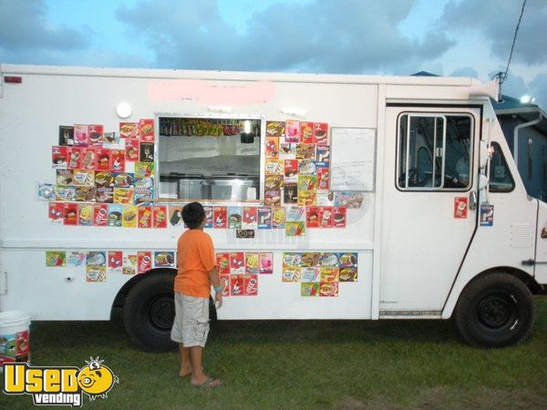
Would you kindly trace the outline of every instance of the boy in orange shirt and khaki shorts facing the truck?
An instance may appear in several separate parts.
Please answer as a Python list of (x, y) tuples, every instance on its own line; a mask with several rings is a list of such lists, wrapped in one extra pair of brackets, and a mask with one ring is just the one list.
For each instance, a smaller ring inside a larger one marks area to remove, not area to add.
[(175, 320), (171, 339), (179, 343), (181, 377), (191, 376), (191, 384), (218, 387), (222, 381), (203, 373), (201, 357), (209, 334), (211, 285), (215, 301), (222, 305), (222, 286), (211, 237), (203, 231), (205, 210), (199, 202), (182, 208), (188, 231), (177, 244), (179, 271), (175, 277)]

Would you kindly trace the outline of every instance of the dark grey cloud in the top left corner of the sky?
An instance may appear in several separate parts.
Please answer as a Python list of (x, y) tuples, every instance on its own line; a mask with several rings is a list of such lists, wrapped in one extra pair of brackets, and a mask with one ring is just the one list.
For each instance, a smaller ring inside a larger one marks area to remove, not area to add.
[(9, 56), (40, 50), (74, 50), (88, 45), (84, 34), (46, 20), (42, 0), (0, 0), (0, 50)]

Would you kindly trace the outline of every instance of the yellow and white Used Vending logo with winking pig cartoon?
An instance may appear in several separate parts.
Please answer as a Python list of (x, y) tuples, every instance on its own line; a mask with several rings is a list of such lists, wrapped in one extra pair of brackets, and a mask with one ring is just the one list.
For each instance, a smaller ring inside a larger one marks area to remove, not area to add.
[(29, 366), (23, 363), (4, 364), (4, 393), (32, 395), (34, 405), (83, 405), (84, 393), (89, 400), (108, 397), (108, 392), (119, 383), (119, 378), (103, 360), (97, 357), (86, 365)]

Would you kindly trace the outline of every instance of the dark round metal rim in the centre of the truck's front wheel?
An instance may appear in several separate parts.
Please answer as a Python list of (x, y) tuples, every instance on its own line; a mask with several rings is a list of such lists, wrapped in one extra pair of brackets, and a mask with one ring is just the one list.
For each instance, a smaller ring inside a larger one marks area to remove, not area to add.
[(490, 329), (501, 329), (516, 318), (516, 301), (510, 293), (490, 293), (479, 302), (480, 323)]

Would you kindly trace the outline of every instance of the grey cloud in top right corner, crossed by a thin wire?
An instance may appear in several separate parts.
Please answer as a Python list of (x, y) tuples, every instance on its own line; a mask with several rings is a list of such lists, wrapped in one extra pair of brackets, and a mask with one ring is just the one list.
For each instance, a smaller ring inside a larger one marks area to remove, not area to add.
[[(445, 6), (441, 26), (455, 34), (462, 30), (482, 33), (490, 43), (493, 55), (507, 61), (521, 6), (522, 0), (452, 0)], [(522, 15), (513, 61), (527, 64), (547, 62), (546, 21), (547, 3), (529, 0)]]

